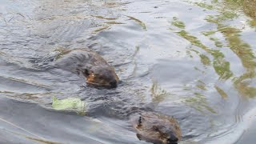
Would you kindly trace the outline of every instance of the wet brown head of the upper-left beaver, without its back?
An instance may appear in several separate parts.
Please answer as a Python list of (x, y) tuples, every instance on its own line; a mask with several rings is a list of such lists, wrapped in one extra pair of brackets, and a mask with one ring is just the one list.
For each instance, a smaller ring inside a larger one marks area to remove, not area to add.
[(94, 86), (116, 87), (119, 81), (118, 75), (111, 66), (92, 66), (90, 69), (85, 69), (83, 74), (86, 82)]

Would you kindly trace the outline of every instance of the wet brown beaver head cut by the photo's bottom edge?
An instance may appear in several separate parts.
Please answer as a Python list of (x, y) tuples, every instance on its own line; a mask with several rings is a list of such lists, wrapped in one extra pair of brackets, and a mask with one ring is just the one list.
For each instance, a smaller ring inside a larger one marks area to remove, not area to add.
[(139, 140), (159, 144), (177, 144), (181, 130), (174, 118), (154, 112), (143, 112), (132, 116)]

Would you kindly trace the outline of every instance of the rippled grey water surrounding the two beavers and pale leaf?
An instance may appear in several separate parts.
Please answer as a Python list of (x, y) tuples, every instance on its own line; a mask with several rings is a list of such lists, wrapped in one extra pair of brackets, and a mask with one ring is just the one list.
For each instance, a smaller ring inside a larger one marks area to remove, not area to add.
[[(253, 143), (255, 27), (234, 3), (0, 1), (0, 143), (145, 143), (131, 107), (174, 116), (181, 143)], [(114, 90), (44, 69), (89, 47), (117, 71)], [(56, 111), (81, 98), (87, 115)]]

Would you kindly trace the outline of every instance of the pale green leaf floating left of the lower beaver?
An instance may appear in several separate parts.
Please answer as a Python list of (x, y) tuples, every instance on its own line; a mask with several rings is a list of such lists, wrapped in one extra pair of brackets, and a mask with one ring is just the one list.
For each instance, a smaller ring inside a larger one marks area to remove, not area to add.
[(79, 98), (65, 98), (59, 100), (53, 97), (52, 100), (54, 110), (71, 110), (78, 114), (85, 114), (86, 102), (82, 102)]

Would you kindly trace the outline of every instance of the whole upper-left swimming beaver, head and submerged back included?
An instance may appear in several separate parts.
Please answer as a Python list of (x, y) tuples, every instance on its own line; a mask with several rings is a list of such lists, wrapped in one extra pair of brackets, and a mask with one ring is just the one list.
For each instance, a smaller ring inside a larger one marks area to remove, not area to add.
[(118, 84), (114, 67), (92, 50), (68, 50), (58, 54), (56, 59), (55, 67), (82, 74), (88, 84), (111, 88)]

